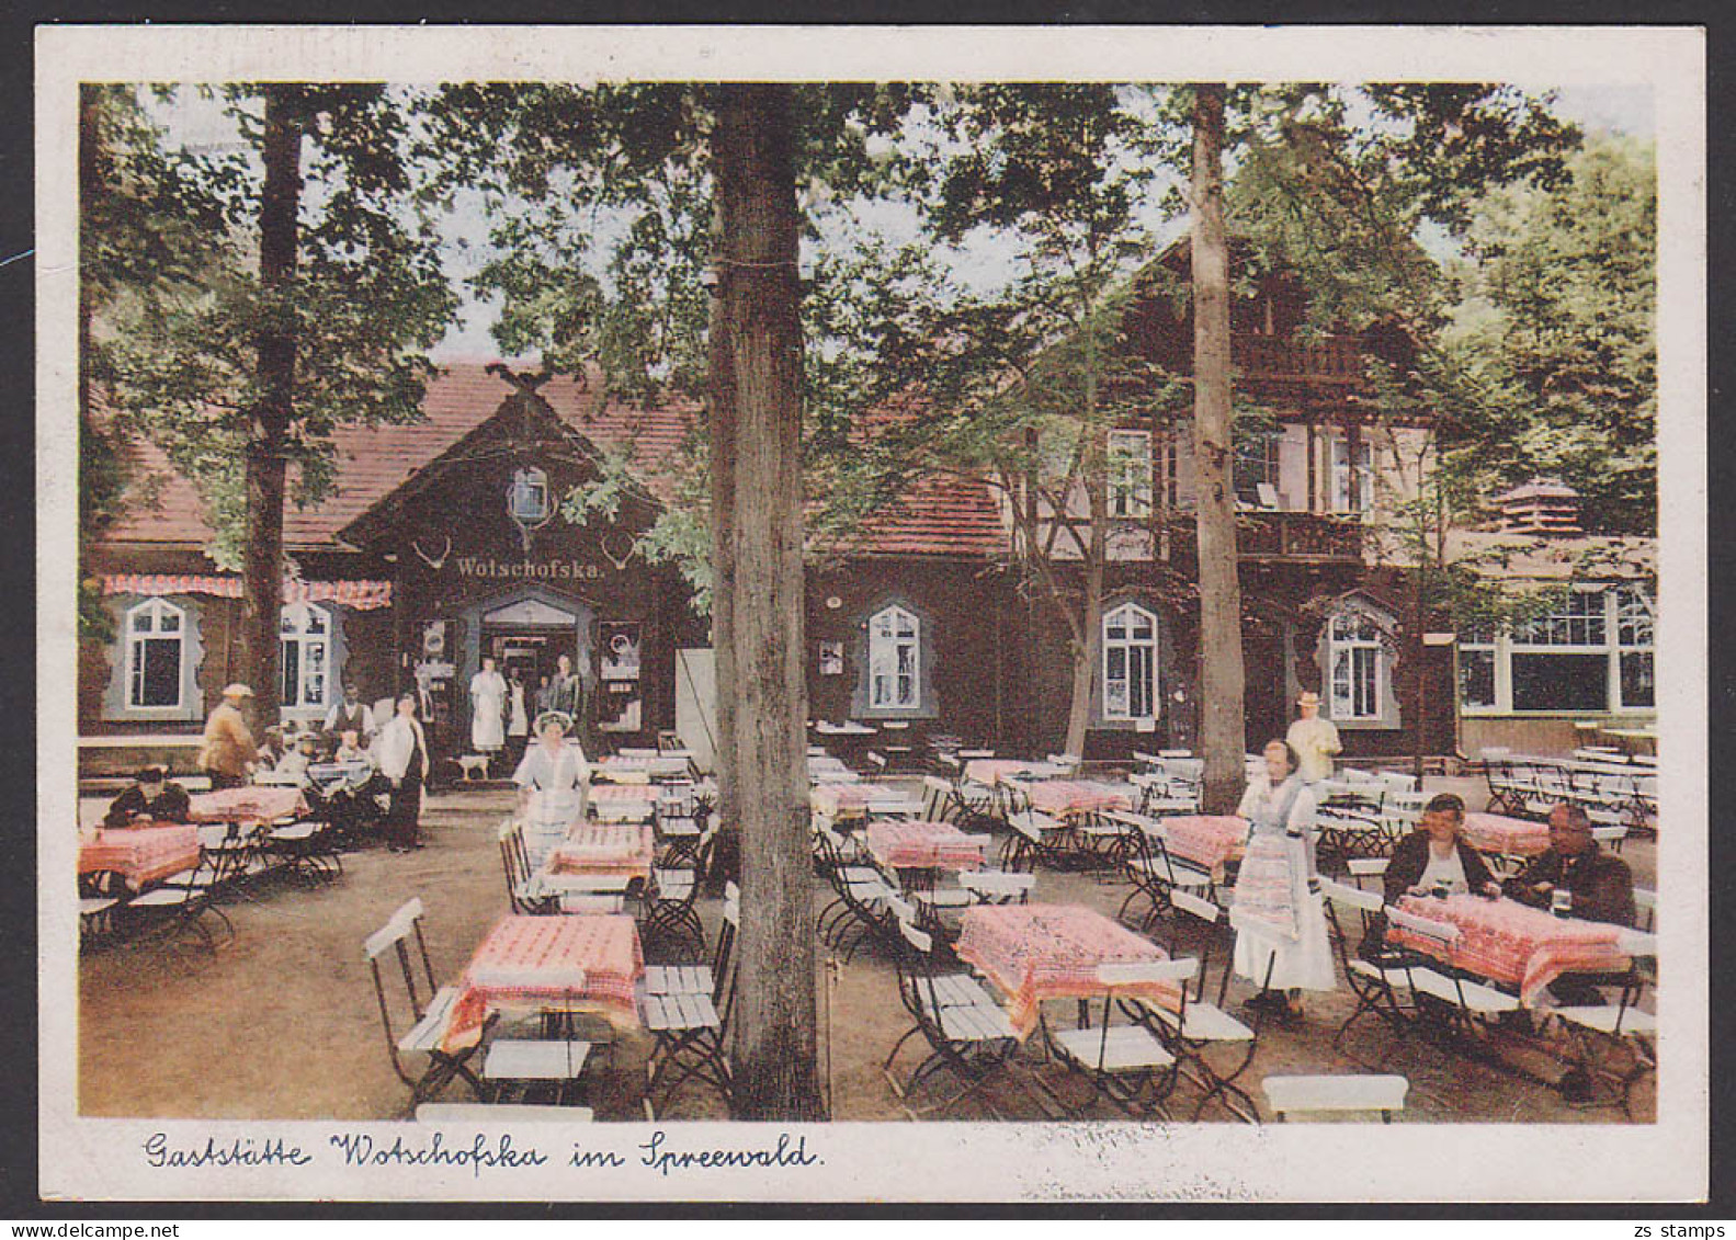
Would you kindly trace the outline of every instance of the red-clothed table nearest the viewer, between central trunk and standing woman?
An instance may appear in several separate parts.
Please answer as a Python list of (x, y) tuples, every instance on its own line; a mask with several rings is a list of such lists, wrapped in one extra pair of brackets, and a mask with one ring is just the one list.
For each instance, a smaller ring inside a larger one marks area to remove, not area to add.
[[(957, 952), (1007, 997), (1007, 1019), (1021, 1040), (1036, 1028), (1045, 999), (1101, 995), (1097, 966), (1168, 959), (1151, 940), (1083, 905), (976, 905), (960, 919)], [(1116, 992), (1180, 1007), (1174, 981)]]

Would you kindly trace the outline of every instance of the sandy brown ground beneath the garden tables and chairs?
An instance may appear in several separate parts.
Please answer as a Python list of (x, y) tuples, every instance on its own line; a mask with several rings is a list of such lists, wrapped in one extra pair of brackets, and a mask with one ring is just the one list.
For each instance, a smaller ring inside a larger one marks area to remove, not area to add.
[[(1481, 801), (1481, 782), (1430, 780), (1430, 790)], [(436, 974), (455, 979), (490, 924), (505, 912), (505, 886), (495, 830), (509, 811), (502, 790), (465, 790), (429, 797), (424, 839), (429, 848), (389, 854), (366, 848), (344, 858), (340, 881), (307, 889), (283, 882), (226, 907), (236, 927), (215, 955), (165, 952), (149, 943), (99, 945), (80, 960), (80, 1111), (102, 1117), (200, 1118), (403, 1118), (410, 1091), (392, 1073), (380, 1030), (373, 983), (361, 943), (404, 900), (427, 907), (427, 934)], [(85, 802), (87, 820), (101, 802)], [(1634, 841), (1623, 853), (1642, 886), (1653, 886), (1654, 844)], [(1083, 903), (1115, 914), (1127, 887), (1090, 874), (1040, 870), (1033, 900)], [(816, 907), (830, 891), (814, 882)], [(715, 934), (717, 901), (701, 901)], [(1215, 973), (1222, 955), (1212, 964)], [(910, 1028), (899, 1006), (896, 973), (884, 953), (863, 950), (825, 976), (823, 1039), (832, 1115), (838, 1120), (908, 1118), (880, 1065)], [(1234, 992), (1233, 992), (1234, 999)], [(1404, 1122), (1608, 1124), (1620, 1110), (1568, 1106), (1555, 1089), (1526, 1080), (1422, 1039), (1397, 1040), (1375, 1019), (1359, 1021), (1345, 1039), (1354, 1058), (1337, 1054), (1332, 1037), (1354, 1000), (1342, 988), (1309, 999), (1295, 1026), (1267, 1025), (1259, 1056), (1241, 1082), (1259, 1096), (1269, 1073), (1399, 1072), (1411, 1082)], [(1064, 1006), (1071, 1007), (1071, 1006)], [(920, 1052), (911, 1039), (898, 1066), (908, 1072)], [(1021, 1072), (1052, 1082), (1069, 1105), (1088, 1091), (1045, 1063), (1040, 1039), (1021, 1051)], [(639, 1082), (649, 1042), (616, 1040), (589, 1080), (599, 1120), (642, 1118)], [(1561, 1068), (1514, 1049), (1507, 1056), (1545, 1078)], [(125, 1063), (127, 1072), (115, 1072)], [(462, 1089), (448, 1091), (460, 1099)], [(1193, 1106), (1182, 1085), (1172, 1108), (1186, 1118)], [(1045, 1110), (1026, 1091), (1002, 1089), (990, 1101), (1009, 1118), (1040, 1120)], [(1651, 1078), (1635, 1091), (1635, 1118), (1653, 1117)], [(1099, 1103), (1102, 1118), (1120, 1113)], [(957, 1118), (981, 1118), (972, 1105)], [(684, 1091), (667, 1118), (726, 1118), (701, 1087)], [(1205, 1120), (1229, 1118), (1210, 1108)]]

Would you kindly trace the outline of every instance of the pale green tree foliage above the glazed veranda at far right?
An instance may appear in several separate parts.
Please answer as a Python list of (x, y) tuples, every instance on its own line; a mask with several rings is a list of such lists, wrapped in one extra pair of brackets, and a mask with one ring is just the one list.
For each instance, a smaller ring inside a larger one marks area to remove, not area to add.
[(1444, 347), (1463, 370), (1462, 439), (1489, 493), (1552, 476), (1601, 533), (1658, 521), (1656, 172), (1653, 149), (1601, 137), (1571, 181), (1510, 188), (1467, 231), (1463, 299)]

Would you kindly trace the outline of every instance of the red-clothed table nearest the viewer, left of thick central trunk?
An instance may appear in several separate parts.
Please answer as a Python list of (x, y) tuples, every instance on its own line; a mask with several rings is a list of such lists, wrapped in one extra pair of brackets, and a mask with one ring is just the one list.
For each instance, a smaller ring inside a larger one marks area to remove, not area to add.
[(505, 1007), (590, 1012), (618, 1030), (639, 1028), (641, 976), (644, 952), (632, 917), (502, 917), (458, 978), (443, 1049), (474, 1045), (488, 1014)]

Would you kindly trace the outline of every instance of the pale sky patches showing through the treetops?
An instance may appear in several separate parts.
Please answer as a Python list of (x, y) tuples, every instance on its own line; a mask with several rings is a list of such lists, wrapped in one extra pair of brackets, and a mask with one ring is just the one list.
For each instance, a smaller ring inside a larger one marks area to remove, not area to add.
[[(217, 148), (233, 146), (236, 141), (233, 123), (222, 115), (222, 104), (198, 99), (193, 92), (181, 92), (170, 109), (153, 108), (153, 111), (167, 125), (170, 141)], [(1559, 87), (1555, 111), (1562, 118), (1576, 122), (1588, 134), (1606, 130), (1642, 139), (1654, 135), (1649, 87)], [(1141, 222), (1158, 243), (1163, 243), (1179, 231), (1179, 224), (1163, 215), (1158, 196), (1151, 196), (1151, 208), (1144, 212)], [(866, 205), (859, 217), (865, 226), (892, 240), (904, 240), (915, 231), (913, 214), (894, 203)], [(477, 299), (464, 285), (464, 280), (481, 266), (486, 250), (488, 217), (483, 198), (481, 195), (460, 195), (457, 208), (443, 217), (441, 255), (462, 304), (458, 321), (432, 351), (436, 359), (483, 359), (500, 354), (500, 347), (488, 333), (498, 304)], [(953, 255), (955, 274), (977, 292), (986, 292), (1010, 280), (1014, 266), (1012, 252), (993, 241), (965, 247)]]

